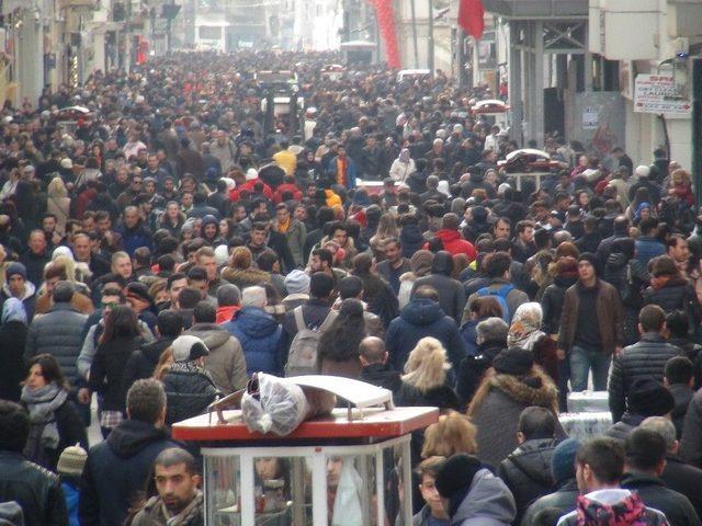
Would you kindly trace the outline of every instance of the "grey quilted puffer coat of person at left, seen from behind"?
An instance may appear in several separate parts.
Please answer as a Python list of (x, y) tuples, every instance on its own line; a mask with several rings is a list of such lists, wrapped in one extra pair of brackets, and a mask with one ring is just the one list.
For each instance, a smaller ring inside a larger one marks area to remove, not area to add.
[(30, 325), (24, 347), (29, 361), (37, 354), (47, 353), (56, 358), (61, 371), (75, 386), (78, 380), (76, 359), (82, 348), (83, 327), (88, 316), (81, 315), (70, 304), (56, 304)]

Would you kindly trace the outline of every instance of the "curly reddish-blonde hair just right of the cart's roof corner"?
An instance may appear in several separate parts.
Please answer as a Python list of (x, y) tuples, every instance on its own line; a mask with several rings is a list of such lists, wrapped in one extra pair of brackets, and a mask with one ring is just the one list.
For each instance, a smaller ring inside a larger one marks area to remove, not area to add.
[(473, 455), (477, 451), (475, 436), (477, 427), (471, 419), (457, 411), (450, 410), (439, 416), (439, 422), (424, 431), (424, 444), (421, 458), (434, 456), (450, 457), (455, 453)]

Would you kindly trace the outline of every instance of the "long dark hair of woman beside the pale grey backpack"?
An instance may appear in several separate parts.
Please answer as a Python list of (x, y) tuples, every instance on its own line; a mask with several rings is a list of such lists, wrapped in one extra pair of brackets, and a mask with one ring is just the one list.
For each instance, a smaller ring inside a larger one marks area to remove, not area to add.
[(358, 299), (344, 299), (331, 327), (321, 334), (317, 359), (346, 362), (359, 356), (359, 344), (365, 338), (363, 304)]

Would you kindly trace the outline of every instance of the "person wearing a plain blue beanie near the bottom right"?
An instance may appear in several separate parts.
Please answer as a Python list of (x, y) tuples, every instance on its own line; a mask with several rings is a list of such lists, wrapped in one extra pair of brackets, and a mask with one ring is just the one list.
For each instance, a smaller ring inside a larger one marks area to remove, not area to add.
[(551, 457), (551, 474), (556, 491), (534, 501), (522, 518), (522, 526), (531, 526), (542, 510), (556, 508), (561, 515), (575, 510), (575, 500), (580, 491), (575, 478), (575, 456), (580, 443), (576, 438), (566, 438), (556, 446)]

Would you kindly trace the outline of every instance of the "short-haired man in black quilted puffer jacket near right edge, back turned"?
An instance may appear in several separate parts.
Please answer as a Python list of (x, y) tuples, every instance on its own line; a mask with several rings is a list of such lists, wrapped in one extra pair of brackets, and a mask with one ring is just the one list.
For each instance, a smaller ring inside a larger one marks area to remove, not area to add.
[(619, 422), (626, 411), (626, 397), (637, 378), (653, 378), (663, 384), (666, 362), (682, 351), (666, 342), (666, 313), (657, 305), (647, 305), (638, 315), (641, 341), (615, 356), (609, 381), (612, 421)]

